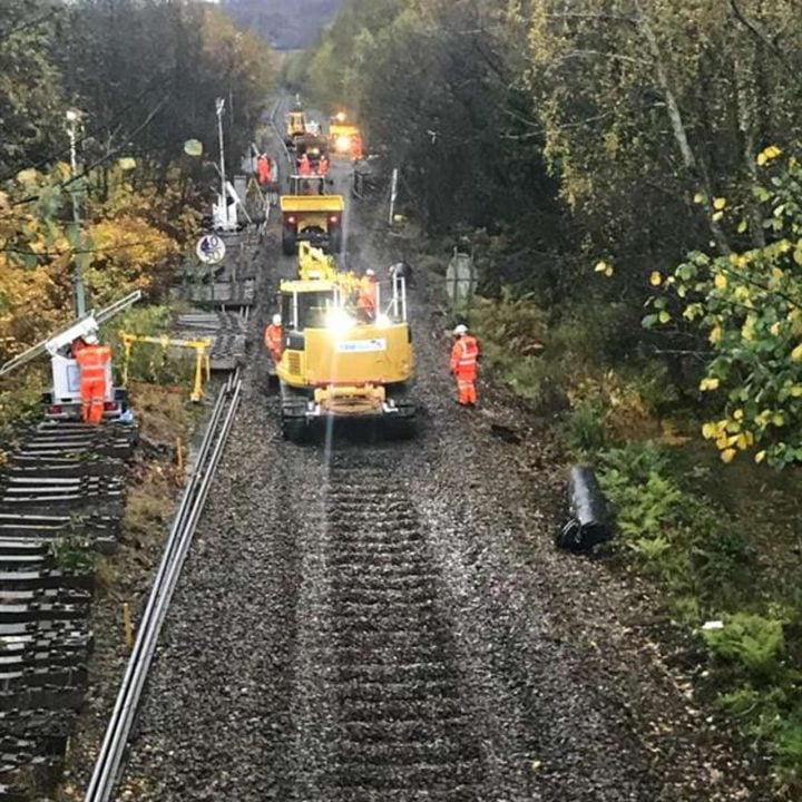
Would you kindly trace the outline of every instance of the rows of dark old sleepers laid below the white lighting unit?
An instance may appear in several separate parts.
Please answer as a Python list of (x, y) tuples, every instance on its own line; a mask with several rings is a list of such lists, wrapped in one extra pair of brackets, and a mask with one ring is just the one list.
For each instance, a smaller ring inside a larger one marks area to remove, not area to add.
[(58, 773), (87, 685), (91, 551), (117, 547), (135, 441), (45, 422), (0, 471), (0, 802)]

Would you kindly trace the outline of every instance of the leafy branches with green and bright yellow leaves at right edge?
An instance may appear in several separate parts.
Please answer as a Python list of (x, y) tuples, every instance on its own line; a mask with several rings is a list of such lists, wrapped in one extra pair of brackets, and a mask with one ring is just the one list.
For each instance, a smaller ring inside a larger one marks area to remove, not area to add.
[[(777, 155), (767, 148), (762, 162)], [(801, 180), (802, 167), (790, 158), (756, 187), (763, 244), (721, 256), (694, 252), (665, 282), (677, 314), (707, 335), (712, 353), (700, 387), (714, 393), (717, 419), (703, 433), (725, 462), (753, 446), (757, 461), (777, 468), (802, 461)], [(666, 301), (661, 295), (652, 305), (668, 317)], [(645, 323), (654, 321), (652, 314)]]

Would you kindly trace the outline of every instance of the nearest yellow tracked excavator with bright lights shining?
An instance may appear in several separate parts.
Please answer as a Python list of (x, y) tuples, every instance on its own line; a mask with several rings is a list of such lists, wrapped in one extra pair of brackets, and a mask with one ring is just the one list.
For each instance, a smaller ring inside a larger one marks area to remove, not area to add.
[[(311, 258), (302, 254), (302, 275)], [(382, 420), (400, 437), (414, 432), (403, 278), (392, 282), (387, 302), (376, 286), (378, 313), (370, 321), (359, 317), (359, 287), (352, 273), (336, 272), (281, 283), (284, 352), (277, 374), (287, 439), (302, 440), (315, 422), (335, 418)]]

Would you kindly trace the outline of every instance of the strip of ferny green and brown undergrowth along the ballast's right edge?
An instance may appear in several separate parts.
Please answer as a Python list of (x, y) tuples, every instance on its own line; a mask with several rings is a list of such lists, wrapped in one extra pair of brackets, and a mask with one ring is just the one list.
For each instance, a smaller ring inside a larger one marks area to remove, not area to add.
[[(744, 492), (754, 496), (743, 507), (712, 492), (732, 467), (707, 467), (697, 440), (683, 436), (698, 427), (693, 411), (677, 410), (662, 364), (609, 351), (620, 342), (616, 314), (588, 304), (549, 316), (532, 295), (503, 291), (477, 299), (470, 322), (486, 366), (541, 413), (557, 413), (566, 450), (596, 464), (618, 559), (698, 634), (716, 704), (766, 744), (777, 799), (800, 799), (802, 590), (783, 578), (771, 510), (754, 514), (766, 480), (750, 478)], [(790, 548), (789, 537), (780, 542)]]

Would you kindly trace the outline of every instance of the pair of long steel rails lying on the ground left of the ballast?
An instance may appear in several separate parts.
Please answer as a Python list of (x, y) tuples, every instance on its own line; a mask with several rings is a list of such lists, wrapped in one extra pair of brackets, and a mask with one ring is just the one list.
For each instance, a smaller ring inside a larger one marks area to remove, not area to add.
[(195, 528), (203, 512), (212, 480), (231, 431), (242, 393), (239, 371), (228, 376), (221, 389), (197, 462), (182, 497), (178, 512), (170, 527), (158, 574), (154, 580), (147, 607), (139, 623), (134, 651), (126, 667), (111, 720), (87, 788), (85, 802), (109, 802), (119, 779), (123, 756), (139, 698), (153, 662), (162, 625), (178, 584)]

